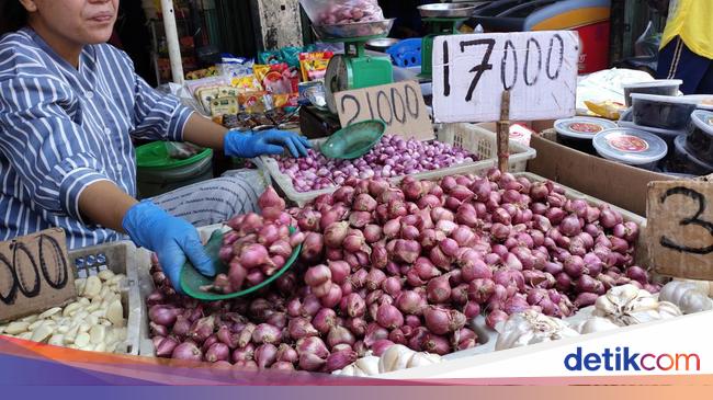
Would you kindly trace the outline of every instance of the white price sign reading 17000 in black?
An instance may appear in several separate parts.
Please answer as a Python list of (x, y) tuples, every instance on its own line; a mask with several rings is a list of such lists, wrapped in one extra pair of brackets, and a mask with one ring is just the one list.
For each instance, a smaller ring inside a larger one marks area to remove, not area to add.
[(441, 123), (575, 114), (579, 36), (573, 31), (439, 36), (433, 44), (433, 112)]

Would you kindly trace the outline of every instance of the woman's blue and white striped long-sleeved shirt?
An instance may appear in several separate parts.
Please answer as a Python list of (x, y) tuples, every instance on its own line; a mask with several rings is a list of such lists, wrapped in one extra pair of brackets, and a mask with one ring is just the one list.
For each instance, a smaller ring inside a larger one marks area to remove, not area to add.
[(191, 111), (128, 56), (88, 45), (73, 68), (33, 30), (0, 38), (0, 240), (64, 228), (69, 249), (123, 238), (82, 221), (79, 196), (114, 182), (136, 196), (135, 138), (181, 141)]

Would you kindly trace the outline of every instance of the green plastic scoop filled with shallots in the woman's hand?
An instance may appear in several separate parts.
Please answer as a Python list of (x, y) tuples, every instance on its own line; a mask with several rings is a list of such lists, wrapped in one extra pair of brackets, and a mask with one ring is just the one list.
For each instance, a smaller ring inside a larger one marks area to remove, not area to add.
[[(290, 227), (290, 233), (292, 235), (294, 232), (295, 232), (295, 228)], [(216, 274), (228, 273), (228, 267), (220, 261), (220, 258), (218, 256), (222, 245), (223, 245), (223, 230), (217, 229), (213, 232), (213, 235), (211, 235), (211, 239), (205, 244), (205, 251), (208, 253), (208, 256), (213, 259)], [(203, 290), (202, 287), (213, 284), (213, 278), (202, 275), (200, 272), (195, 270), (195, 267), (190, 262), (186, 262), (183, 265), (183, 268), (181, 270), (181, 288), (183, 289), (183, 293), (185, 293), (188, 296), (199, 300), (205, 300), (205, 301), (229, 300), (236, 297), (247, 296), (272, 284), (285, 272), (287, 272), (287, 270), (292, 267), (292, 264), (294, 264), (295, 261), (297, 260), (297, 256), (299, 255), (301, 251), (302, 251), (302, 244), (299, 244), (292, 251), (292, 255), (290, 255), (290, 259), (285, 262), (285, 265), (280, 271), (278, 271), (274, 275), (270, 276), (269, 278), (264, 279), (261, 284), (249, 287), (241, 292), (230, 293), (227, 295), (219, 295), (216, 293)]]

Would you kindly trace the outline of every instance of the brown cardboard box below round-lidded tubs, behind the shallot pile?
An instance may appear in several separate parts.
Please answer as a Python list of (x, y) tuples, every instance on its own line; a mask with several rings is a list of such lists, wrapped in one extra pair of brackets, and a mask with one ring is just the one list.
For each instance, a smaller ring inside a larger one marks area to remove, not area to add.
[(528, 162), (528, 171), (641, 216), (646, 216), (648, 183), (675, 180), (666, 174), (590, 156), (542, 137), (533, 137), (530, 147), (537, 150), (537, 158)]

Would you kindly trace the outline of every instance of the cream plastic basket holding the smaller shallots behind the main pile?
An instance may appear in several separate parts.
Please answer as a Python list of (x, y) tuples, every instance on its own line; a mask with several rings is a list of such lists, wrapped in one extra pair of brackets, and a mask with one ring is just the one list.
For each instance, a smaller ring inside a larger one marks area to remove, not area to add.
[[(468, 162), (451, 168), (434, 171), (427, 171), (414, 174), (417, 180), (437, 180), (448, 175), (476, 173), (496, 167), (498, 163), (497, 137), (496, 134), (480, 126), (473, 124), (446, 124), (438, 129), (438, 139), (449, 145), (461, 147), (476, 155), (480, 161)], [(319, 150), (325, 139), (313, 140), (313, 148)], [(537, 152), (524, 145), (510, 141), (510, 171), (523, 172), (528, 168), (528, 160), (535, 158)], [(312, 192), (297, 192), (292, 184), (292, 179), (280, 171), (278, 161), (271, 157), (261, 157), (257, 162), (259, 168), (264, 169), (274, 183), (275, 188), (282, 192), (284, 197), (293, 204), (302, 207), (315, 197), (332, 193), (337, 186)], [(400, 182), (404, 176), (395, 178), (393, 181)]]

